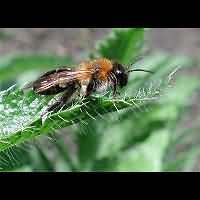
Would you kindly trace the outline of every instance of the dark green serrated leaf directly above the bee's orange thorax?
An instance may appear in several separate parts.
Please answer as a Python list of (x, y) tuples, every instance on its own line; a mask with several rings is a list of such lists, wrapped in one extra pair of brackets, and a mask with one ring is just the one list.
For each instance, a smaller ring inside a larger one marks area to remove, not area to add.
[(143, 28), (116, 28), (97, 43), (96, 56), (130, 64), (143, 47), (143, 41)]

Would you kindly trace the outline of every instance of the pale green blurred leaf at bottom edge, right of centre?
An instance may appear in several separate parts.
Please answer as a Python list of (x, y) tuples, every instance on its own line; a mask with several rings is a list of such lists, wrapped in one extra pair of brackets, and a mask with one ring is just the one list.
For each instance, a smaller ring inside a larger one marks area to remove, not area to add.
[[(145, 142), (119, 153), (114, 158), (99, 161), (94, 170), (101, 171), (161, 171), (162, 158), (169, 142), (169, 132), (158, 130)], [(110, 159), (110, 161), (109, 161)]]

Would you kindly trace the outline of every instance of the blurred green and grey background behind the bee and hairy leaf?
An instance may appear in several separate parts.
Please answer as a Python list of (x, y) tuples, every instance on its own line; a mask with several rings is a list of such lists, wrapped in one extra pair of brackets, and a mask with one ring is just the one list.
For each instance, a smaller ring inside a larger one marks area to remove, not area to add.
[[(199, 171), (199, 36), (200, 29), (186, 28), (0, 28), (2, 91), (89, 57), (130, 63), (143, 49), (149, 53), (136, 66), (156, 73), (132, 74), (123, 94), (162, 90), (158, 104), (88, 119), (0, 151), (0, 170)], [(173, 83), (161, 87), (177, 67)]]

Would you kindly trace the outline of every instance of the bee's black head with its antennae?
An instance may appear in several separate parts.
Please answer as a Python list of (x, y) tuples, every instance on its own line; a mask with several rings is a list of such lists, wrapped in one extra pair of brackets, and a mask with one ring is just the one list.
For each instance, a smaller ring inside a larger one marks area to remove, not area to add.
[(117, 79), (117, 84), (122, 88), (127, 85), (128, 83), (128, 75), (130, 72), (133, 71), (143, 71), (148, 73), (153, 73), (152, 71), (144, 70), (144, 69), (131, 69), (128, 70), (127, 67), (123, 66), (118, 62), (113, 63), (113, 70), (112, 73), (115, 75)]

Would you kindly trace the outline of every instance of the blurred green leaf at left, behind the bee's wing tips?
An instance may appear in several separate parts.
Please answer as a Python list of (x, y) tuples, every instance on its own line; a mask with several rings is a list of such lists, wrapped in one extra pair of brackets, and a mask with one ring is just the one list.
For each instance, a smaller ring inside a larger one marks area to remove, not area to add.
[[(55, 69), (63, 65), (72, 64), (69, 57), (53, 55), (9, 55), (0, 58), (0, 84), (8, 80), (16, 80), (19, 76), (26, 76), (28, 71), (41, 72)], [(35, 78), (35, 76), (30, 76)], [(29, 79), (29, 81), (31, 81)]]

